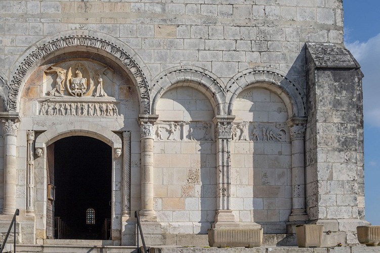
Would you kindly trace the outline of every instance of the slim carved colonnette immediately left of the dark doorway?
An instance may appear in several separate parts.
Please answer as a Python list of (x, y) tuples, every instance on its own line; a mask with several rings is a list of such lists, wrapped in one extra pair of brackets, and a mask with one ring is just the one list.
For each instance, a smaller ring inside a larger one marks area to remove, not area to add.
[(34, 131), (26, 132), (26, 215), (34, 215)]

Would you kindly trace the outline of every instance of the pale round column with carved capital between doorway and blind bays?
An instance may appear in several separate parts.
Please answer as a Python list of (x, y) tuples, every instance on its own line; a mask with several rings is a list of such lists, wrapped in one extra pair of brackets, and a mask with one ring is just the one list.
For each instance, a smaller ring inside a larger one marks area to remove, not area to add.
[(141, 221), (156, 221), (153, 209), (153, 124), (158, 115), (140, 114), (141, 127)]

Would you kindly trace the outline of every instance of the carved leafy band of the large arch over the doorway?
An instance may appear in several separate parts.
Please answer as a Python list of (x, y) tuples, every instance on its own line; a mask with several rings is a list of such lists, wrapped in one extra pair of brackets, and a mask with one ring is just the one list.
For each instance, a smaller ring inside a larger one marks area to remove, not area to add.
[[(141, 67), (132, 57), (126, 53), (119, 46), (111, 43), (98, 36), (91, 35), (67, 35), (48, 41), (47, 43), (37, 46), (24, 60), (19, 64), (16, 69), (12, 82), (10, 84), (10, 92), (8, 99), (8, 109), (10, 111), (17, 111), (18, 96), (20, 87), (23, 84), (27, 72), (36, 64), (36, 62), (45, 56), (54, 53), (57, 50), (67, 47), (89, 47), (97, 50), (102, 50), (120, 60), (123, 65), (132, 73), (136, 80), (136, 86), (140, 92), (141, 97), (141, 113), (149, 114), (150, 109), (150, 89), (148, 86), (147, 78), (144, 75)], [(82, 51), (78, 49), (78, 51)]]

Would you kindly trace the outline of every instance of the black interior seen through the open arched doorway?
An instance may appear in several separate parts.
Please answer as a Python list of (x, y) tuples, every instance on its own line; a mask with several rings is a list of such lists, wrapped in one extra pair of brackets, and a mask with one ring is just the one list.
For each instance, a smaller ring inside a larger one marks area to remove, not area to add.
[[(111, 218), (111, 147), (85, 136), (54, 144), (55, 216), (69, 227), (65, 239), (109, 239), (102, 226)], [(86, 224), (87, 208), (95, 209), (95, 225)]]

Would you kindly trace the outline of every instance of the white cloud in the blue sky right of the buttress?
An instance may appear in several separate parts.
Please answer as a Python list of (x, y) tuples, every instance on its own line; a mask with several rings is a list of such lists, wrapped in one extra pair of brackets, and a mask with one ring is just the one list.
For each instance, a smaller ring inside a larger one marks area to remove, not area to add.
[(346, 47), (361, 65), (363, 78), (364, 121), (380, 128), (380, 33), (364, 42)]

